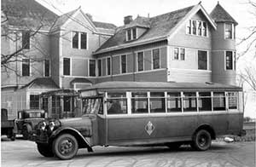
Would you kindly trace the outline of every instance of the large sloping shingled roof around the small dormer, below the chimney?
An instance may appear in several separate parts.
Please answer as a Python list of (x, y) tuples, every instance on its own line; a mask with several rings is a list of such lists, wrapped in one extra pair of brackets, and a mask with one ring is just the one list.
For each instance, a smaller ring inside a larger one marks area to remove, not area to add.
[[(155, 17), (145, 18), (138, 16), (136, 20), (131, 21), (129, 25), (119, 27), (119, 30), (110, 37), (106, 43), (96, 50), (96, 54), (102, 53), (104, 49), (111, 49), (120, 45), (129, 45), (132, 43), (140, 43), (143, 41), (152, 40), (155, 38), (167, 37), (169, 32), (177, 26), (177, 24), (183, 20), (183, 18), (191, 11), (195, 6), (190, 6), (184, 9), (178, 9), (176, 11), (160, 14)], [(126, 42), (125, 29), (131, 26), (143, 26), (148, 27), (147, 32), (145, 32), (137, 40)], [(150, 27), (150, 28), (149, 28)]]

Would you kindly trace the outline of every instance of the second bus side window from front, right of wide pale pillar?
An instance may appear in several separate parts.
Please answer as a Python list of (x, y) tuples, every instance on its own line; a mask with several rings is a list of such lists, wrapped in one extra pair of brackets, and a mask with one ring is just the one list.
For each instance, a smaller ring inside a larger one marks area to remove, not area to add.
[(147, 92), (131, 93), (131, 113), (148, 113)]

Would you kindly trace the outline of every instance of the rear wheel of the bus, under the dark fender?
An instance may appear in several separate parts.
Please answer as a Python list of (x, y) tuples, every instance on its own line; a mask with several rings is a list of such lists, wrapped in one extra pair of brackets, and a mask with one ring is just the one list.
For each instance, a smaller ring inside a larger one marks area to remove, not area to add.
[(191, 147), (198, 151), (206, 151), (211, 147), (212, 138), (211, 134), (207, 130), (198, 130), (193, 136)]

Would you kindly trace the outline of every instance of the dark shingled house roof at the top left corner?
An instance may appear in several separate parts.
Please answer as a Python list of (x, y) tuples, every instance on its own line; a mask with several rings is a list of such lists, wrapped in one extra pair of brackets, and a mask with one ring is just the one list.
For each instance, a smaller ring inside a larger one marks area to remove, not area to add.
[(58, 15), (46, 9), (35, 0), (2, 0), (1, 10), (8, 19), (9, 26), (19, 26), (24, 29), (48, 31)]

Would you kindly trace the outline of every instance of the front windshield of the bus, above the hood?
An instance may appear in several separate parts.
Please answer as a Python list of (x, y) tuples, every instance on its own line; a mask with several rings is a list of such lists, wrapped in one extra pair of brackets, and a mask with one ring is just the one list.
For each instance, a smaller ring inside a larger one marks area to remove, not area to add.
[(83, 114), (102, 114), (102, 98), (83, 99)]

